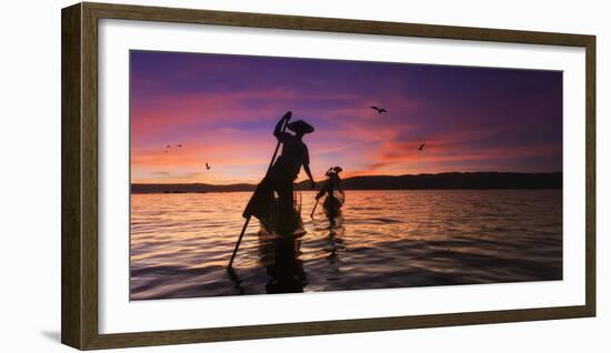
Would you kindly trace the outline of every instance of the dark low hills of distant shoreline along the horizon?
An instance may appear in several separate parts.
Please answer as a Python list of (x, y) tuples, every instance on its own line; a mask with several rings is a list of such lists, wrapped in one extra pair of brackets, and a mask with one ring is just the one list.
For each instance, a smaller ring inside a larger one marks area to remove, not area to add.
[[(320, 188), (321, 182), (317, 184)], [(367, 175), (345, 178), (344, 190), (492, 190), (492, 189), (562, 189), (562, 172), (450, 172), (438, 174)], [(132, 183), (132, 194), (208, 193), (254, 191), (256, 184), (214, 185), (206, 183)], [(311, 190), (308, 181), (297, 183), (297, 190)]]

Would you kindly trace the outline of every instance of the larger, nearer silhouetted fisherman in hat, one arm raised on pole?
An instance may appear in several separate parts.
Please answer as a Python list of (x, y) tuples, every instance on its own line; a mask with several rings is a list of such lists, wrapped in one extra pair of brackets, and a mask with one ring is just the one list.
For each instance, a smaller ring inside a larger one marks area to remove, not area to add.
[[(276, 160), (269, 173), (263, 181), (259, 183), (253, 196), (251, 198), (244, 213), (244, 218), (250, 215), (259, 220), (267, 218), (273, 203), (273, 192), (278, 193), (278, 231), (286, 234), (294, 231), (294, 211), (293, 211), (293, 182), (299, 175), (301, 167), (310, 178), (312, 189), (315, 186), (312, 172), (310, 171), (310, 153), (308, 147), (303, 143), (303, 135), (312, 133), (314, 128), (303, 120), (288, 123), (291, 114), (287, 113), (273, 130), (273, 135), (282, 144), (282, 152)], [(282, 127), (287, 123), (287, 129), (294, 134), (283, 132)]]

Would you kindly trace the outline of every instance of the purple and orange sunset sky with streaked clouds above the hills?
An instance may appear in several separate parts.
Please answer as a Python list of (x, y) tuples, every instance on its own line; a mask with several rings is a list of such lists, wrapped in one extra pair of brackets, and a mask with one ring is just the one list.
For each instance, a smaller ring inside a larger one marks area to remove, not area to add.
[(130, 56), (134, 183), (258, 182), (288, 110), (317, 129), (304, 137), (317, 180), (332, 165), (344, 178), (562, 170), (560, 71)]

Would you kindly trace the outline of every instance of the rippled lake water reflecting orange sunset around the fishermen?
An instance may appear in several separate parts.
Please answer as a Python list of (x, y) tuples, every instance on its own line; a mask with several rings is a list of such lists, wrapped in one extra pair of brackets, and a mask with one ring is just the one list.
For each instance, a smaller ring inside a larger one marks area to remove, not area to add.
[(258, 235), (226, 271), (251, 193), (133, 194), (131, 300), (562, 279), (562, 191), (347, 191), (306, 234)]

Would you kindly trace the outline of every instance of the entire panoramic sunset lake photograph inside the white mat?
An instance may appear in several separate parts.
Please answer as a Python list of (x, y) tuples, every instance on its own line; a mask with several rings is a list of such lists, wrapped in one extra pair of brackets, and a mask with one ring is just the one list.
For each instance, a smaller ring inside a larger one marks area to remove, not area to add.
[(562, 280), (561, 71), (132, 50), (129, 84), (132, 301)]

